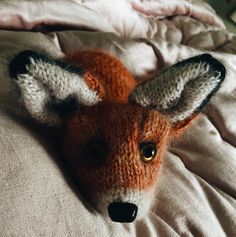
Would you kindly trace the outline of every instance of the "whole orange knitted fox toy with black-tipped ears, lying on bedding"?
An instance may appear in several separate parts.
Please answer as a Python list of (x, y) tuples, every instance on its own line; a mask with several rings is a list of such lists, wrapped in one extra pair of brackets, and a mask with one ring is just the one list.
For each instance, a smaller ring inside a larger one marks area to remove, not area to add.
[[(65, 158), (95, 209), (116, 222), (147, 213), (168, 142), (225, 78), (225, 67), (203, 54), (138, 83), (99, 50), (63, 59), (27, 50), (10, 62), (9, 72), (33, 118), (66, 126)], [(74, 113), (65, 118), (72, 104)]]

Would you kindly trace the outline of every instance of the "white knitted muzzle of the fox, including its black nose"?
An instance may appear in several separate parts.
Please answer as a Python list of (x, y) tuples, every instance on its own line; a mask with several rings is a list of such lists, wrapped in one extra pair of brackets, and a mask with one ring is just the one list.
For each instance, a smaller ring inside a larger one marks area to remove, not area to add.
[(103, 192), (87, 192), (89, 203), (98, 213), (114, 222), (131, 223), (149, 212), (155, 185), (148, 190), (116, 187)]

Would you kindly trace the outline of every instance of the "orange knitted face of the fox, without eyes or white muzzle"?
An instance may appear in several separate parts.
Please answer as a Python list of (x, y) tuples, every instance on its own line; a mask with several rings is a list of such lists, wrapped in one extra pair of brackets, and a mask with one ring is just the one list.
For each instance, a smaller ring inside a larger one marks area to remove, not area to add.
[[(84, 107), (68, 122), (69, 159), (82, 182), (94, 189), (146, 189), (156, 181), (170, 127), (158, 112), (136, 105), (101, 103)], [(104, 165), (94, 168), (83, 163), (81, 149), (97, 138), (107, 142), (109, 154)], [(139, 157), (139, 144), (146, 141), (155, 142), (158, 149), (148, 164)]]

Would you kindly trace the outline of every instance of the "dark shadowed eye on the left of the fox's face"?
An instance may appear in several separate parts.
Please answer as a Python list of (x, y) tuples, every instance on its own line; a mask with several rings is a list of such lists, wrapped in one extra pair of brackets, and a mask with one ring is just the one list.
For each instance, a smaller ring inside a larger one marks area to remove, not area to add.
[(107, 144), (102, 140), (93, 140), (87, 143), (84, 148), (85, 162), (89, 166), (100, 166), (102, 165), (108, 155)]

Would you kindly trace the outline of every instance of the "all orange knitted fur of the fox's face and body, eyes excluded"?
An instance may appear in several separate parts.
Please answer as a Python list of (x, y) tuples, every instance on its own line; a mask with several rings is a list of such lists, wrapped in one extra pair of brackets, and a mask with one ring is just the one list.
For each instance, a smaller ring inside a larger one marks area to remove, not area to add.
[[(88, 85), (104, 101), (82, 107), (79, 116), (68, 121), (68, 150), (79, 180), (88, 189), (99, 191), (114, 187), (149, 189), (157, 180), (168, 141), (182, 126), (173, 129), (159, 112), (130, 105), (128, 97), (137, 82), (115, 57), (90, 50), (74, 52), (66, 60), (86, 71)], [(104, 165), (86, 166), (83, 147), (97, 138), (108, 141), (110, 153)], [(145, 141), (157, 144), (157, 155), (150, 163), (139, 157), (138, 145)]]

